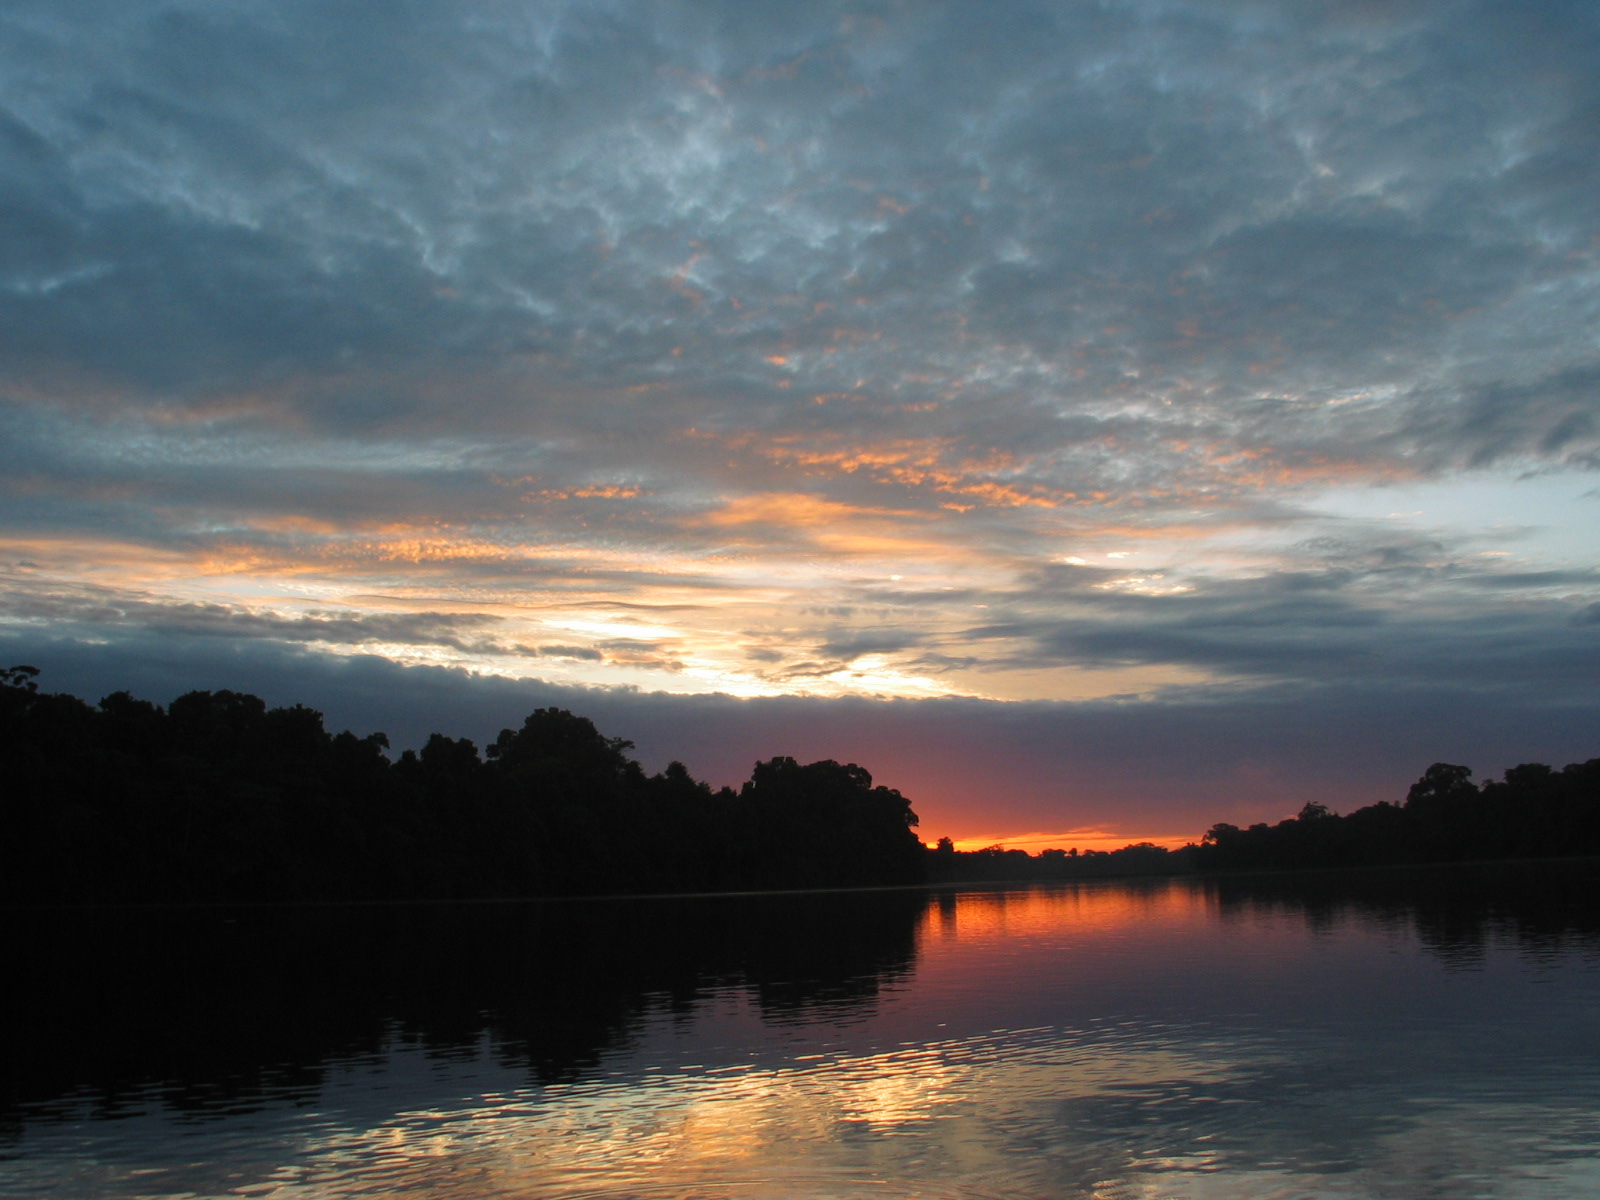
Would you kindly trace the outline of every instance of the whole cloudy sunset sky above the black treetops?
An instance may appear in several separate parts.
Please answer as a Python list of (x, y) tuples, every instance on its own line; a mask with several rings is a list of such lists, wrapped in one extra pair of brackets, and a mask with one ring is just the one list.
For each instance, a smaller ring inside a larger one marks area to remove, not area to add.
[(1600, 8), (10, 0), (0, 658), (1122, 845), (1600, 755)]

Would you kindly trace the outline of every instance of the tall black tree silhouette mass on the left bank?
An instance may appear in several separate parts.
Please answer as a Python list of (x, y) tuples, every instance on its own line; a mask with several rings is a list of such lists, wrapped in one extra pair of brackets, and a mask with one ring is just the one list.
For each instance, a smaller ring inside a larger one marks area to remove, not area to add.
[(0, 902), (458, 899), (915, 883), (910, 802), (856, 765), (682, 763), (538, 709), (485, 754), (331, 734), (235, 691), (85, 704), (0, 670)]

